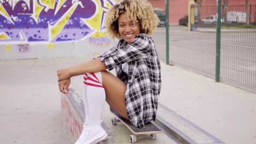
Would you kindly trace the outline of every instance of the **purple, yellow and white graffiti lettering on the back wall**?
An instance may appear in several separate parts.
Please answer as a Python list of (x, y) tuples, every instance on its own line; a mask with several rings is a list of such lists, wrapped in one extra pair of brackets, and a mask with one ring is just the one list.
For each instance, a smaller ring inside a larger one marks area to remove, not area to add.
[[(0, 44), (83, 40), (104, 30), (101, 27), (103, 13), (115, 1), (0, 1), (0, 33), (8, 38), (0, 38)], [(111, 5), (105, 7), (107, 3)], [(95, 23), (97, 27), (94, 27)]]

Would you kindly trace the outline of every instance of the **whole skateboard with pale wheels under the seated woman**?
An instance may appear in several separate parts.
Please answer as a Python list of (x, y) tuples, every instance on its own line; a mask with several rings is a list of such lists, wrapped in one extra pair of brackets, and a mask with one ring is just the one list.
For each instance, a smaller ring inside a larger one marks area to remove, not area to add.
[(110, 111), (115, 116), (111, 119), (113, 125), (117, 125), (118, 122), (122, 122), (133, 135), (130, 135), (129, 140), (131, 143), (137, 142), (137, 137), (141, 135), (150, 135), (152, 140), (156, 140), (156, 133), (162, 133), (163, 131), (156, 127), (152, 122), (146, 123), (144, 129), (137, 128), (131, 124), (130, 121), (122, 117), (117, 111), (110, 107)]

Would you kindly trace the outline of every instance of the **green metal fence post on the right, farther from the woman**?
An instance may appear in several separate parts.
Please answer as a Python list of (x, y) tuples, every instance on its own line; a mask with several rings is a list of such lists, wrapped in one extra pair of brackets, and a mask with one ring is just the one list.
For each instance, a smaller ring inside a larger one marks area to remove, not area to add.
[(218, 20), (217, 20), (217, 33), (216, 33), (216, 73), (215, 73), (215, 81), (219, 82), (219, 74), (220, 74), (220, 29), (222, 26), (222, 1), (218, 1)]

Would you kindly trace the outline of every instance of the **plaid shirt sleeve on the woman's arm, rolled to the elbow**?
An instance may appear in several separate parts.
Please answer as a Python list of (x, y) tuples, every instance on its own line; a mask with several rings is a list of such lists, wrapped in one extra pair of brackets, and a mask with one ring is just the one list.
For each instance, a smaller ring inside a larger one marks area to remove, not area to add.
[(109, 53), (101, 58), (107, 69), (112, 70), (118, 65), (135, 61), (137, 59), (149, 58), (151, 44), (146, 34), (138, 34), (131, 44), (120, 47), (117, 51)]

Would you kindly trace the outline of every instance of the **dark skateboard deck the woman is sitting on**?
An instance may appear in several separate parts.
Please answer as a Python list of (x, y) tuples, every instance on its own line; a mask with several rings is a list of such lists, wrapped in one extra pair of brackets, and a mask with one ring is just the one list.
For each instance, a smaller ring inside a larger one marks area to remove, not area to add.
[[(150, 135), (150, 134), (163, 132), (151, 122), (146, 123), (144, 129), (137, 128), (133, 126), (130, 121), (125, 119), (123, 116), (121, 116), (117, 111), (112, 109), (112, 107), (110, 107), (110, 111), (113, 113), (115, 118), (119, 119), (119, 121), (122, 122), (135, 135)], [(113, 119), (112, 119), (112, 124), (113, 124)]]

